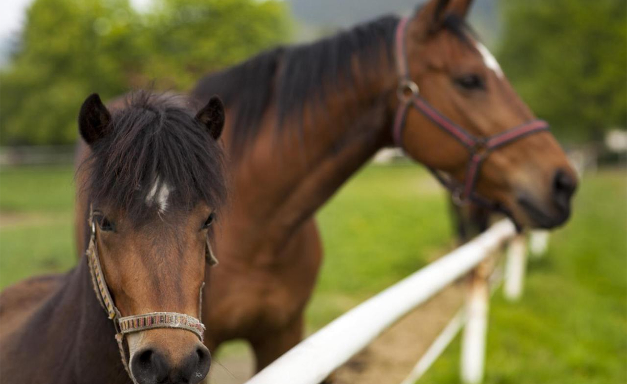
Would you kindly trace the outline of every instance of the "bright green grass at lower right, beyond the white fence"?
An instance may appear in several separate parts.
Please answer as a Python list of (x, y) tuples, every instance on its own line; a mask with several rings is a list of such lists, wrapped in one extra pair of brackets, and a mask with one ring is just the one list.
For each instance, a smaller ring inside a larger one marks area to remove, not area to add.
[[(627, 382), (627, 184), (588, 174), (569, 224), (532, 260), (520, 302), (490, 307), (486, 380), (494, 384)], [(458, 383), (454, 343), (421, 383)]]

